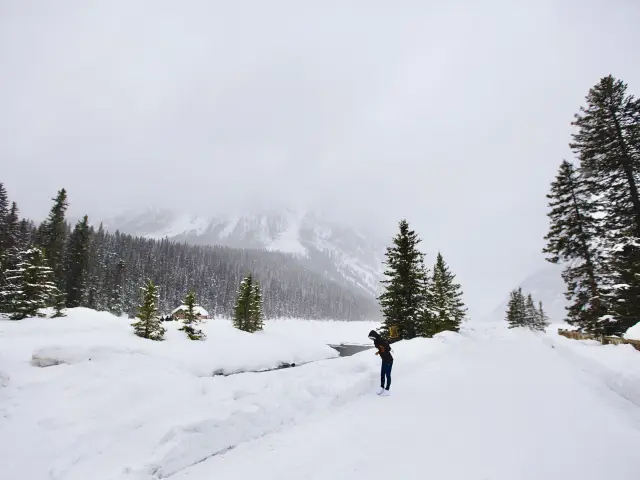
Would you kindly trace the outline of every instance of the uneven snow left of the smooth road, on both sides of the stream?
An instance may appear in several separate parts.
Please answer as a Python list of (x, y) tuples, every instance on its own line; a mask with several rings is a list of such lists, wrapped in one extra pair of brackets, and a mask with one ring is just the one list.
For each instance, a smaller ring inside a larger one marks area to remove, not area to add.
[[(85, 309), (0, 322), (0, 478), (166, 478), (371, 393), (379, 381), (371, 351), (335, 358), (324, 343), (366, 338), (371, 324), (287, 320), (251, 335), (209, 321), (207, 340), (192, 342), (167, 322), (167, 340), (152, 342), (129, 323)], [(460, 341), (443, 334), (396, 344), (398, 375)], [(327, 360), (211, 376), (319, 359)]]

